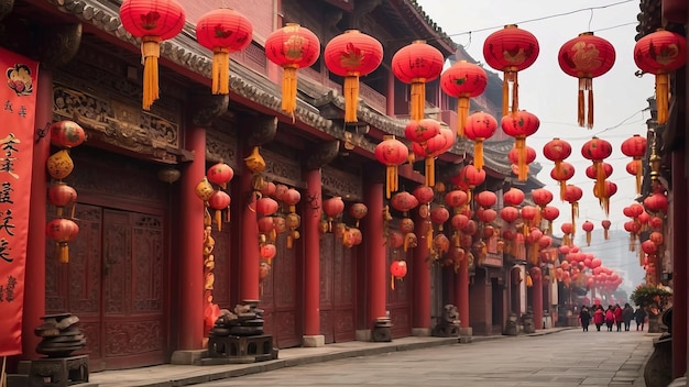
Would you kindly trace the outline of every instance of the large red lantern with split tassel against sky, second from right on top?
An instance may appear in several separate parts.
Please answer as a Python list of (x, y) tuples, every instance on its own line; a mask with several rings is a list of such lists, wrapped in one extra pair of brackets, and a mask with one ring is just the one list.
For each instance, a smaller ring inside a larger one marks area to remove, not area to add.
[[(579, 126), (593, 128), (593, 78), (608, 73), (615, 63), (615, 48), (610, 42), (584, 32), (560, 47), (557, 56), (560, 68), (567, 75), (579, 78)], [(584, 91), (588, 91), (589, 109), (586, 109)]]

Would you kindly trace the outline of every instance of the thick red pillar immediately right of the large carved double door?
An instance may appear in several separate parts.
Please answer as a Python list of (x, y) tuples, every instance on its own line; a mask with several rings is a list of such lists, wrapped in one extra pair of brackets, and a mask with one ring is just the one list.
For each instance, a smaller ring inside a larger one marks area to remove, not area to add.
[(186, 224), (179, 241), (179, 350), (200, 350), (204, 340), (204, 202), (196, 186), (206, 176), (206, 130), (187, 131), (194, 161), (182, 173), (179, 218)]

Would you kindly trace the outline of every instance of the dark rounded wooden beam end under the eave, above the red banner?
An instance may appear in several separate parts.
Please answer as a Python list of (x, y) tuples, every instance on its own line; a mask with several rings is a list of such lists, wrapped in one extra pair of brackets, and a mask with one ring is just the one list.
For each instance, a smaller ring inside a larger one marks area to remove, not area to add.
[(56, 68), (69, 63), (81, 45), (81, 23), (42, 26), (35, 55), (42, 65)]

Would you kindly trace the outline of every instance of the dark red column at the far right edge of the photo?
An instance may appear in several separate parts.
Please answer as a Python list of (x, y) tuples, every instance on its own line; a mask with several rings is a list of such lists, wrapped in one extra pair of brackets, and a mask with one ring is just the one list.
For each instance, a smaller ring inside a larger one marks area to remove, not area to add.
[[(672, 378), (682, 377), (687, 372), (687, 176), (683, 152), (671, 154), (672, 163), (672, 199), (671, 203), (671, 241), (672, 287)], [(677, 327), (677, 329), (675, 329)]]

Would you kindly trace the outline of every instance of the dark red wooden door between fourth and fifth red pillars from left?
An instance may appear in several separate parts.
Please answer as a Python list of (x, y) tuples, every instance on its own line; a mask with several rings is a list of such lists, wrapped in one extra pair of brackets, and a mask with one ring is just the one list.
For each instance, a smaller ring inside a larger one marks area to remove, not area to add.
[(344, 247), (332, 233), (320, 237), (320, 334), (326, 343), (357, 336), (354, 248)]

